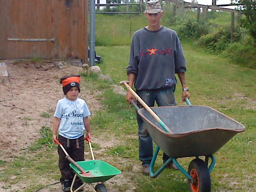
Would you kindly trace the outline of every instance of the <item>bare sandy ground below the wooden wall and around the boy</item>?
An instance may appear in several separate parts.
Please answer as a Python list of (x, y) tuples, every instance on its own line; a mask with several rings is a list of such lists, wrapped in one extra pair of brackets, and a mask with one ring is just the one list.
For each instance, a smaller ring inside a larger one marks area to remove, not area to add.
[[(53, 114), (58, 99), (64, 97), (60, 77), (66, 74), (78, 74), (82, 67), (68, 63), (48, 61), (31, 63), (12, 60), (0, 61), (0, 160), (11, 160), (21, 150), (26, 149), (31, 142), (38, 139), (42, 126), (52, 126), (53, 118), (42, 118), (45, 112)], [(8, 75), (6, 75), (8, 74)], [(100, 108), (100, 102), (94, 98), (98, 92), (83, 90), (80, 98), (86, 99), (92, 115)], [(97, 138), (100, 140), (101, 138)], [(110, 143), (102, 143), (108, 146)], [(96, 152), (97, 154), (97, 152)], [(11, 178), (15, 179), (15, 178)], [(58, 181), (48, 181), (52, 184)], [(120, 182), (130, 182), (125, 174), (108, 180), (108, 187)], [(20, 192), (26, 184), (9, 184), (0, 182), (1, 192)], [(132, 192), (133, 184), (127, 191)], [(60, 184), (54, 184), (39, 190), (40, 192), (62, 191)], [(92, 190), (90, 190), (92, 191)], [(110, 190), (116, 191), (116, 190)]]

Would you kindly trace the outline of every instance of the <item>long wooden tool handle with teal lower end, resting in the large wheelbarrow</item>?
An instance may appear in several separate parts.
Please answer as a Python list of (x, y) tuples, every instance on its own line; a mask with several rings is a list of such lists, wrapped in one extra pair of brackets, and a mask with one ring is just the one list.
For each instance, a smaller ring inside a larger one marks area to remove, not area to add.
[(136, 92), (127, 84), (129, 81), (120, 81), (120, 85), (126, 86), (126, 88), (132, 93), (132, 95), (142, 104), (142, 106), (153, 116), (153, 118), (162, 126), (162, 128), (169, 133), (173, 132), (164, 124), (164, 122), (156, 115), (156, 113), (136, 94)]

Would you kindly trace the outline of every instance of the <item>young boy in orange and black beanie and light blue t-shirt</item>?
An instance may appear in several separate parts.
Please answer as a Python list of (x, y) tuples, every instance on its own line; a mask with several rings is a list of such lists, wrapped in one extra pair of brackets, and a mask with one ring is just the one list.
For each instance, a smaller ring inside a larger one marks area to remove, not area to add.
[[(64, 76), (60, 79), (66, 97), (58, 100), (53, 122), (53, 142), (57, 140), (63, 145), (74, 161), (84, 161), (84, 130), (86, 136), (91, 137), (90, 111), (83, 99), (78, 98), (80, 92), (80, 75)], [(59, 136), (57, 138), (57, 132)], [(62, 190), (70, 191), (74, 172), (63, 150), (58, 146), (60, 182)], [(74, 183), (74, 190), (82, 185), (78, 178)]]

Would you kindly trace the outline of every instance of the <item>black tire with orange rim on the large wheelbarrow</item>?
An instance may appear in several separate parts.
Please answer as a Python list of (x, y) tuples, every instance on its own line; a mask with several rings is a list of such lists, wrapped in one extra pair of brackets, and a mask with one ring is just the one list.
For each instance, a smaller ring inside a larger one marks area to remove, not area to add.
[(193, 183), (188, 180), (190, 192), (210, 192), (211, 177), (206, 163), (202, 159), (194, 159), (188, 166), (188, 174), (192, 177)]

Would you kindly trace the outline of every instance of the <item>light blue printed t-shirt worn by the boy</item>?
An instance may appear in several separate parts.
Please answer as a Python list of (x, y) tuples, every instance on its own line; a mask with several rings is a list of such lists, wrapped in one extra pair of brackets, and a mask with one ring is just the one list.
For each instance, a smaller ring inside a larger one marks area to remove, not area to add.
[(75, 101), (66, 97), (58, 100), (54, 117), (60, 118), (59, 135), (76, 139), (84, 134), (84, 117), (90, 116), (90, 111), (83, 99)]

